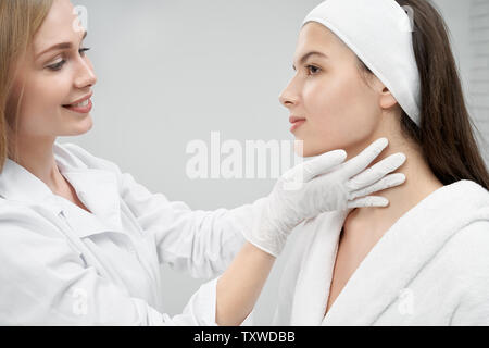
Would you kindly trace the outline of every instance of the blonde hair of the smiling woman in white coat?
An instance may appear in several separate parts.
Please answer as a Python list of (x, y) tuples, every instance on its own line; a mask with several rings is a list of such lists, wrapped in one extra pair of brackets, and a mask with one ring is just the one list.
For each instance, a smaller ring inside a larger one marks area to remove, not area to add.
[(16, 128), (23, 96), (12, 100), (16, 62), (27, 52), (53, 0), (0, 0), (0, 172), (8, 157), (9, 135)]

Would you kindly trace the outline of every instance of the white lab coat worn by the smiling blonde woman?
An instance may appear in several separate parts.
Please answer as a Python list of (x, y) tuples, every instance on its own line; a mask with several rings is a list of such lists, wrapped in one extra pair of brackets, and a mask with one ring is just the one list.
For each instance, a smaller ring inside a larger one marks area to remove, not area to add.
[(202, 285), (184, 312), (171, 318), (162, 306), (161, 264), (195, 277), (217, 276), (243, 245), (243, 221), (253, 219), (260, 203), (191, 211), (150, 194), (114, 163), (76, 145), (54, 144), (53, 151), (91, 213), (5, 162), (0, 324), (215, 325), (217, 279)]

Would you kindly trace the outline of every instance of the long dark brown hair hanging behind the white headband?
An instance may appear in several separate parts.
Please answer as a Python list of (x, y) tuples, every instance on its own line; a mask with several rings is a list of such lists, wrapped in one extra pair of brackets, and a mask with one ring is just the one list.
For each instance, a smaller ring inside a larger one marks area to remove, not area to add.
[[(422, 92), (419, 127), (402, 111), (401, 129), (419, 145), (443, 185), (469, 179), (489, 189), (489, 174), (474, 137), (477, 128), (467, 111), (447, 24), (430, 1), (396, 1), (413, 10), (413, 48)], [(364, 73), (373, 74), (359, 62)]]

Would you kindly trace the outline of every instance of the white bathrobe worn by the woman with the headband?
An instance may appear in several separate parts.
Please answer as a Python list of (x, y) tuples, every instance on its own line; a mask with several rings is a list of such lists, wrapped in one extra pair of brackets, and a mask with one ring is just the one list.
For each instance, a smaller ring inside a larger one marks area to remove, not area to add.
[(374, 246), (325, 316), (347, 212), (296, 229), (275, 325), (489, 325), (489, 192), (441, 187)]

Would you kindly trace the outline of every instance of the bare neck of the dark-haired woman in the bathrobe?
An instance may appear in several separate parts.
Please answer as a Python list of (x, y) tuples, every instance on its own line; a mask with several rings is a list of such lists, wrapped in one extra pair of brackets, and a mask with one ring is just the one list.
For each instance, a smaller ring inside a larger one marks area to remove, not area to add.
[(401, 186), (373, 194), (387, 198), (389, 200), (388, 207), (353, 210), (344, 223), (346, 232), (354, 233), (359, 231), (359, 233), (365, 233), (365, 231), (368, 231), (372, 237), (378, 239), (409, 210), (443, 186), (423, 159), (418, 147), (403, 139), (390, 137), (388, 139), (388, 148), (372, 165), (390, 154), (403, 152), (406, 156), (406, 162), (396, 173), (403, 173), (406, 181)]

